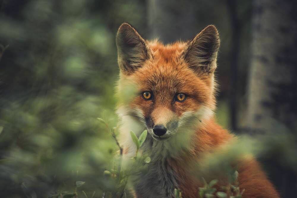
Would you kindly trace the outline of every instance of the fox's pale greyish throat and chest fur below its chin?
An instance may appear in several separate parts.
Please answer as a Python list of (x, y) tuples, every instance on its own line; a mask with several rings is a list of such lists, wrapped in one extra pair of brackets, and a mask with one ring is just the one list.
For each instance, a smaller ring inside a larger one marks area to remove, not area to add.
[(187, 156), (194, 146), (190, 141), (184, 145), (180, 139), (173, 136), (166, 141), (157, 141), (148, 134), (140, 149), (143, 155), (151, 157), (151, 162), (147, 172), (137, 180), (135, 191), (139, 197), (175, 197), (174, 189), (178, 189), (181, 182), (178, 169), (182, 168), (177, 169), (176, 162)]

